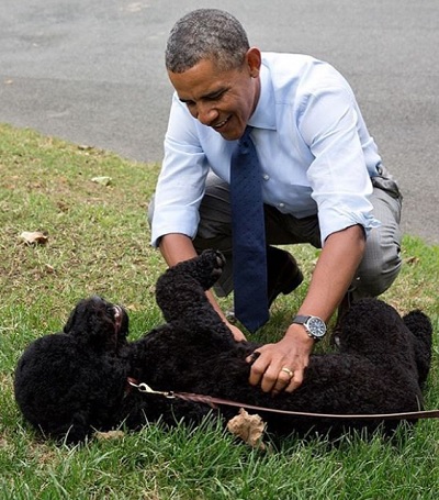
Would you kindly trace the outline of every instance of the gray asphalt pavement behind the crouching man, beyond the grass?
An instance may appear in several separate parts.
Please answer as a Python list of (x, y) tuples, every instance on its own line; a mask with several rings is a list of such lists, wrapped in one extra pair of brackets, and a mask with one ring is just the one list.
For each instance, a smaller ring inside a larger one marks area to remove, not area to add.
[(2, 0), (0, 122), (159, 162), (166, 38), (199, 7), (234, 13), (261, 49), (337, 67), (399, 180), (403, 231), (439, 244), (438, 0)]

